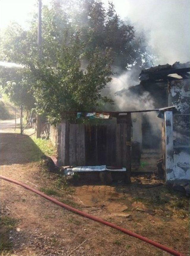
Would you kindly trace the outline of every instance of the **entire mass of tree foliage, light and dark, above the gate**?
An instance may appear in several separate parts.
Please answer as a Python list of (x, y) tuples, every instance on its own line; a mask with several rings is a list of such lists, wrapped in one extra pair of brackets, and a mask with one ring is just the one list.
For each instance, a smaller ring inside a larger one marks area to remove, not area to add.
[(37, 50), (37, 14), (29, 30), (11, 24), (0, 40), (1, 60), (25, 66), (15, 77), (1, 79), (6, 92), (19, 104), (20, 98), (35, 100), (37, 111), (55, 122), (64, 111), (113, 103), (102, 89), (115, 67), (149, 65), (144, 38), (135, 36), (134, 27), (121, 20), (112, 3), (105, 9), (99, 0), (53, 0), (50, 8), (43, 7), (42, 59)]

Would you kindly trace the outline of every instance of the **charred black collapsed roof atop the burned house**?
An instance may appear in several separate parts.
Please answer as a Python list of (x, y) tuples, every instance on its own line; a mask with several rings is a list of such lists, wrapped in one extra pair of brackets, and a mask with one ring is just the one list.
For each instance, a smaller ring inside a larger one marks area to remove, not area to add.
[(171, 74), (180, 75), (183, 79), (190, 78), (190, 63), (179, 63), (176, 61), (173, 65), (165, 64), (151, 67), (141, 71), (139, 75), (140, 81), (163, 81), (179, 79), (177, 77), (170, 76)]

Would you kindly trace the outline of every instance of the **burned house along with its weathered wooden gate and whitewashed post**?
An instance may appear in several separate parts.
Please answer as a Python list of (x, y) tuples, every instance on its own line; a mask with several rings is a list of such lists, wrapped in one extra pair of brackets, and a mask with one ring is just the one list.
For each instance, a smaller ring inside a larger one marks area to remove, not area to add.
[[(69, 123), (64, 117), (58, 129), (50, 132), (60, 165), (67, 166), (69, 172), (72, 171), (70, 167), (75, 168), (80, 174), (87, 170), (112, 172), (116, 180), (129, 181), (131, 165), (134, 162), (140, 165), (142, 149), (148, 148), (151, 152), (159, 148), (159, 154), (155, 151), (156, 160), (159, 160), (158, 166), (166, 182), (187, 184), (190, 180), (189, 71), (189, 63), (178, 62), (142, 70), (140, 84), (129, 90), (138, 95), (148, 92), (154, 99), (155, 109), (151, 111), (83, 113), (97, 118), (108, 117), (98, 124)], [(156, 121), (152, 121), (154, 127), (158, 124), (161, 127), (156, 135), (146, 117), (153, 112), (157, 113), (154, 115)], [(65, 114), (77, 118), (82, 112)]]

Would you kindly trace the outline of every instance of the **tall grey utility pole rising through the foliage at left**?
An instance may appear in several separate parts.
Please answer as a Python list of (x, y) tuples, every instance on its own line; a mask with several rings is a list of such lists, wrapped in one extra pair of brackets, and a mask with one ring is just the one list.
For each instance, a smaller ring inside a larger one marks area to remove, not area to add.
[[(38, 54), (42, 59), (42, 0), (38, 0)], [(40, 116), (36, 117), (36, 138), (40, 138)]]

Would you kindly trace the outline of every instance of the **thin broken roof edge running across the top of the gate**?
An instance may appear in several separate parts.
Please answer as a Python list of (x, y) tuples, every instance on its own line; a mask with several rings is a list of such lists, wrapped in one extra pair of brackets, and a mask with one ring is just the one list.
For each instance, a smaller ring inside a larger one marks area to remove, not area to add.
[(150, 109), (150, 110), (134, 110), (134, 111), (65, 111), (64, 114), (77, 114), (78, 112), (81, 113), (107, 113), (107, 114), (127, 114), (127, 113), (139, 113), (139, 112), (152, 112), (152, 111), (166, 111), (166, 110), (172, 110), (175, 109), (176, 106), (171, 107), (164, 107), (164, 108), (156, 108), (156, 109)]

